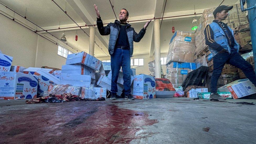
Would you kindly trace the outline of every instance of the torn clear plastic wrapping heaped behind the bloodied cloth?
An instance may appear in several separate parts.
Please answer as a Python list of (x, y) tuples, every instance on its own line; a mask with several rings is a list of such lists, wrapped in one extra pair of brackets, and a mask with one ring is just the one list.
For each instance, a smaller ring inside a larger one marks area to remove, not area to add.
[(44, 91), (40, 96), (46, 97), (50, 94), (52, 95), (62, 95), (64, 93), (71, 93), (72, 95), (79, 95), (81, 91), (81, 87), (75, 87), (71, 84), (57, 84), (55, 85), (50, 92)]

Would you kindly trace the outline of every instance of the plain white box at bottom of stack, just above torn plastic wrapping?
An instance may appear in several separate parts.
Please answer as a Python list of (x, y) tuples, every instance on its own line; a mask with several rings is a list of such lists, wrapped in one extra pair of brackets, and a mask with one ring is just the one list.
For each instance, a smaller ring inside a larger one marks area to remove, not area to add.
[(77, 87), (89, 87), (91, 84), (91, 76), (61, 73), (60, 84), (71, 84), (72, 86)]

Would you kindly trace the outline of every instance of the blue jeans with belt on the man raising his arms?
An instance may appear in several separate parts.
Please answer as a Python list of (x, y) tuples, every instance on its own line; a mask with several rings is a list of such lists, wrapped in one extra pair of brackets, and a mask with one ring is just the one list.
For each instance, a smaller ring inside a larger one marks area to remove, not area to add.
[(124, 79), (124, 93), (131, 93), (131, 58), (129, 50), (115, 49), (114, 53), (110, 56), (111, 60), (111, 93), (116, 94), (117, 89), (117, 80), (119, 76), (120, 68), (122, 67), (123, 79)]

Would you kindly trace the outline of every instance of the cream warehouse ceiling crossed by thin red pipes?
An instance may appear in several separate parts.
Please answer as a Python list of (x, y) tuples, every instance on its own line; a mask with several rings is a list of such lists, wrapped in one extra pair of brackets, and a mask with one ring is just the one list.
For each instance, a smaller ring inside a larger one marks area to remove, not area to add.
[[(164, 4), (166, 0), (110, 0), (114, 6), (114, 11), (118, 17), (119, 10), (126, 8), (129, 11), (129, 19), (148, 19), (153, 18), (159, 10), (158, 15), (163, 15)], [(167, 0), (164, 17), (183, 15), (186, 10), (205, 9), (211, 7), (217, 7), (223, 0)], [(115, 14), (111, 8), (109, 0), (0, 0), (1, 3), (5, 4), (9, 8), (15, 10), (15, 12), (25, 16), (25, 9), (27, 19), (38, 24), (45, 29), (56, 29), (59, 27), (67, 27), (67, 25), (76, 26), (76, 24), (54, 3), (56, 2), (64, 11), (66, 9), (67, 14), (76, 22), (80, 23), (80, 26), (87, 22), (95, 23), (96, 14), (93, 4), (98, 6), (100, 16), (104, 23), (113, 22)], [(237, 0), (225, 0), (222, 4), (234, 4)], [(77, 4), (77, 7), (74, 7)], [(161, 9), (162, 8), (162, 9)], [(0, 10), (4, 7), (0, 6)], [(78, 10), (79, 9), (79, 10)], [(184, 12), (181, 12), (184, 11)], [(175, 13), (179, 12), (179, 13)], [(191, 14), (191, 12), (189, 13)], [(195, 17), (199, 19), (200, 17)], [(193, 32), (191, 30), (193, 16), (188, 17), (177, 17), (163, 19), (160, 29), (160, 47), (161, 53), (167, 53), (169, 49), (169, 41), (173, 36), (172, 33), (172, 20), (174, 22), (175, 30)], [(134, 27), (135, 31), (139, 31), (143, 28), (146, 21), (131, 22), (129, 24)], [(150, 54), (152, 46), (154, 46), (153, 21), (150, 23), (146, 30), (146, 34), (140, 42), (134, 42), (134, 55)], [(160, 22), (161, 23), (161, 22)], [(70, 27), (70, 26), (68, 26)], [(83, 27), (83, 30), (89, 34), (89, 28)], [(76, 31), (78, 33), (78, 41), (75, 41)], [(95, 28), (95, 57), (104, 57), (108, 54), (108, 40), (109, 36), (101, 36), (98, 34), (97, 27)], [(49, 31), (52, 35), (61, 38), (63, 30)], [(45, 36), (52, 38), (50, 34), (42, 33)], [(78, 51), (89, 51), (89, 36), (87, 36), (81, 29), (65, 29), (66, 38), (68, 39), (68, 45), (71, 45)], [(56, 41), (56, 38), (52, 38)], [(67, 49), (69, 46), (60, 42)], [(101, 49), (102, 48), (102, 49)], [(106, 53), (104, 53), (104, 52)], [(109, 55), (109, 54), (108, 54)]]

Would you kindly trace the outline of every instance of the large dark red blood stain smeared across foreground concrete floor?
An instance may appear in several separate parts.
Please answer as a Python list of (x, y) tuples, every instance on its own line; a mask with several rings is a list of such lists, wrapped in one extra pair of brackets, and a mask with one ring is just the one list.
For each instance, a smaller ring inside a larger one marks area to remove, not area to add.
[(156, 135), (143, 111), (107, 103), (42, 104), (34, 110), (6, 111), (0, 121), (0, 143), (129, 143)]

